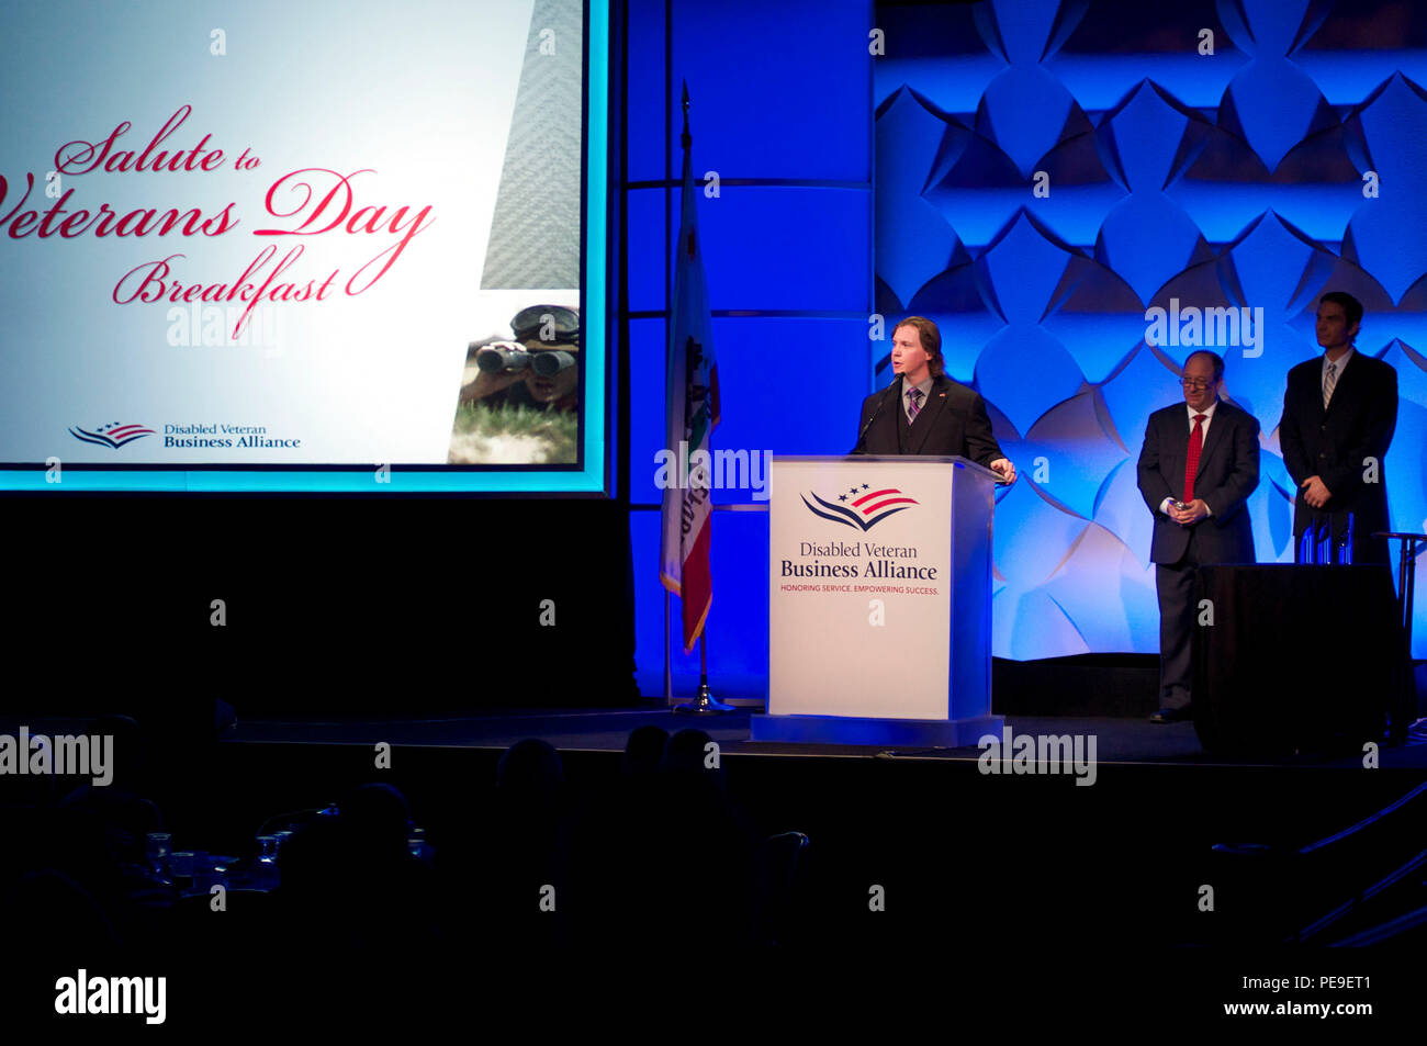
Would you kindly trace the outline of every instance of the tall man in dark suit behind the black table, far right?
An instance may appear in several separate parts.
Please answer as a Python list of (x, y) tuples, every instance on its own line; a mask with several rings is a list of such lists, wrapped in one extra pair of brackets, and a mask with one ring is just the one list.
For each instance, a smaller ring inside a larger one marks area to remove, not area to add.
[(1383, 458), (1397, 425), (1397, 371), (1353, 345), (1363, 305), (1351, 294), (1329, 291), (1319, 300), (1317, 335), (1323, 355), (1289, 371), (1279, 445), (1299, 487), (1293, 502), (1294, 557), (1314, 518), (1343, 534), (1353, 514), (1353, 562), (1388, 562), (1387, 481)]

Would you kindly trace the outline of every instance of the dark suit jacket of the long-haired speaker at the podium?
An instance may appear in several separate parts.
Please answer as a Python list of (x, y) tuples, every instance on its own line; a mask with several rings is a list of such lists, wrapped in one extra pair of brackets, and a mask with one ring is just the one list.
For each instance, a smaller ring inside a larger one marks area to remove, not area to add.
[(866, 428), (873, 414), (876, 420), (852, 448), (852, 454), (960, 455), (977, 465), (990, 465), (996, 458), (1006, 457), (990, 431), (986, 401), (976, 390), (959, 385), (945, 374), (933, 378), (916, 421), (908, 424), (902, 381), (898, 377), (885, 390), (862, 401), (858, 431)]

